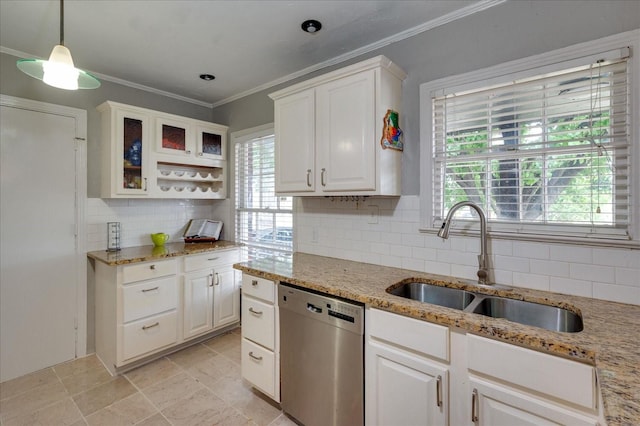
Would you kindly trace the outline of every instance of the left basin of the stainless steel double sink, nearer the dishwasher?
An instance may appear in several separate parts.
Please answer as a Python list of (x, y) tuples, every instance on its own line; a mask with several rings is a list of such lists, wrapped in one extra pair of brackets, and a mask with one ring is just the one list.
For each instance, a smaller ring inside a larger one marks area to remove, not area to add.
[(466, 308), (475, 297), (468, 291), (420, 282), (405, 283), (399, 287), (387, 289), (387, 292), (407, 299), (460, 310)]

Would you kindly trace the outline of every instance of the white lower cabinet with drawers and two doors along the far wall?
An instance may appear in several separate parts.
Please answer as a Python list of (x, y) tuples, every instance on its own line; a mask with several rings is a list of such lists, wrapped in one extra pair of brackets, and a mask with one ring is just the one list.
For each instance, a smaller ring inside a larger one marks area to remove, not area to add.
[(96, 354), (111, 374), (240, 321), (237, 249), (109, 266), (95, 262)]

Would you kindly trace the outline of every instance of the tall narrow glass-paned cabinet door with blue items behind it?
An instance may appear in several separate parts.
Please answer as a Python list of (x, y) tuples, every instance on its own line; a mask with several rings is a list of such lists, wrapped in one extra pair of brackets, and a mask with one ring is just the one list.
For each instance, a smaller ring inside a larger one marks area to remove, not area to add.
[[(147, 195), (149, 178), (149, 118), (134, 111), (115, 112), (116, 182), (119, 195)], [(113, 181), (112, 181), (113, 182)]]

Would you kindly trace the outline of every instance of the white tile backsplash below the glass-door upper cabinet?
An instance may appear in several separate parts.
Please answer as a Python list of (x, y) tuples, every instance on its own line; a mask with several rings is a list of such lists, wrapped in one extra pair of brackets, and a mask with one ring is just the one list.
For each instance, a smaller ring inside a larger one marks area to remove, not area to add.
[(87, 200), (87, 251), (107, 248), (107, 222), (121, 223), (121, 247), (150, 245), (149, 234), (165, 232), (182, 241), (191, 219), (215, 219), (215, 203), (206, 200)]

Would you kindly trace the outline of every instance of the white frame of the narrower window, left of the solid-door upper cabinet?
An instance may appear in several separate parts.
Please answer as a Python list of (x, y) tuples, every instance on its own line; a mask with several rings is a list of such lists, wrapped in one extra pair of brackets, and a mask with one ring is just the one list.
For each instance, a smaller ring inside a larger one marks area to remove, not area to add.
[[(238, 227), (237, 227), (237, 209), (236, 209), (236, 205), (237, 205), (237, 194), (236, 194), (236, 184), (237, 184), (237, 169), (236, 169), (236, 145), (238, 143), (244, 143), (244, 142), (248, 142), (254, 139), (261, 139), (261, 138), (266, 138), (269, 136), (274, 136), (275, 132), (274, 132), (274, 125), (273, 123), (268, 123), (268, 124), (264, 124), (261, 126), (257, 126), (257, 127), (252, 127), (249, 129), (245, 129), (245, 130), (240, 130), (237, 132), (233, 132), (231, 133), (231, 145), (232, 145), (232, 149), (230, 150), (231, 154), (231, 158), (229, 159), (229, 166), (233, 167), (233, 179), (230, 181), (229, 185), (230, 185), (230, 192), (233, 194), (231, 198), (231, 225), (233, 226), (233, 233), (234, 233), (234, 239), (236, 242), (242, 242), (238, 239)], [(274, 136), (275, 137), (275, 136)], [(274, 176), (275, 176), (275, 170), (274, 170)], [(276, 195), (277, 196), (277, 195)], [(274, 213), (281, 213), (282, 212), (279, 210), (278, 212)], [(292, 200), (292, 207), (291, 207), (291, 222), (292, 222), (292, 227), (291, 227), (291, 232), (292, 232), (292, 246), (290, 250), (287, 250), (286, 248), (281, 248), (281, 247), (272, 247), (269, 246), (267, 247), (263, 247), (263, 246), (251, 246), (251, 244), (247, 244), (245, 246), (243, 246), (243, 258), (247, 259), (247, 260), (251, 260), (252, 257), (249, 255), (250, 254), (250, 247), (254, 247), (255, 249), (261, 249), (261, 250), (271, 250), (277, 254), (283, 255), (283, 256), (289, 256), (293, 253), (295, 247), (295, 239), (293, 238), (293, 232), (294, 232), (294, 215), (293, 215), (293, 200)], [(275, 230), (275, 229), (274, 229)], [(246, 243), (243, 243), (246, 244)]]

